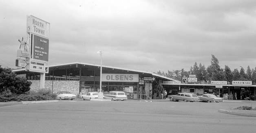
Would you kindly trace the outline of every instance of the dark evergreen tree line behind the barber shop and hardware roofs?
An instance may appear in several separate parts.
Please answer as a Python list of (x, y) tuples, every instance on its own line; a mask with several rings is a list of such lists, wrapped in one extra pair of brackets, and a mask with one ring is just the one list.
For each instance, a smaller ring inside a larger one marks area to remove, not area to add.
[(159, 75), (163, 75), (166, 77), (170, 77), (172, 79), (176, 79), (181, 81), (183, 75), (188, 77), (189, 75), (196, 75), (198, 84), (207, 84), (207, 82), (211, 81), (252, 81), (252, 84), (256, 84), (256, 67), (251, 69), (250, 66), (247, 66), (247, 70), (240, 66), (240, 70), (234, 69), (233, 71), (229, 66), (225, 65), (225, 68), (221, 68), (218, 64), (218, 59), (212, 55), (211, 65), (207, 68), (205, 65), (199, 63), (199, 65), (195, 62), (194, 66), (190, 66), (190, 71), (181, 70), (173, 70), (168, 73), (161, 72), (160, 70), (157, 72)]

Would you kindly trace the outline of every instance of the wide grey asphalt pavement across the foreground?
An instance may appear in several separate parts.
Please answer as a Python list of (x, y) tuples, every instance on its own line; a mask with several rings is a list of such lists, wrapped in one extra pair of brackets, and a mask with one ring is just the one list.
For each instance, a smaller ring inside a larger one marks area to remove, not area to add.
[(0, 133), (254, 133), (256, 118), (219, 109), (256, 102), (59, 101), (0, 107)]

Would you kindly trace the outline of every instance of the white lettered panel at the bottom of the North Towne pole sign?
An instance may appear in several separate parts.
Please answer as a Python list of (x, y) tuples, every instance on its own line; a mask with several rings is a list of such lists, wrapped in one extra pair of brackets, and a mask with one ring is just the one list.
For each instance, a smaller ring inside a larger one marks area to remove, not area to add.
[[(29, 63), (28, 63), (29, 62)], [(26, 70), (39, 73), (48, 73), (45, 71), (45, 62), (30, 59), (27, 63)]]

